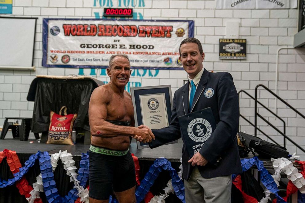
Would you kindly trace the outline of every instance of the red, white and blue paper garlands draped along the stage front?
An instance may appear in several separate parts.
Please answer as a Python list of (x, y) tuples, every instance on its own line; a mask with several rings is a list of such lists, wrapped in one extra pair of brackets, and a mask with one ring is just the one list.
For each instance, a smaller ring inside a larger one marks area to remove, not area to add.
[[(18, 155), (15, 151), (7, 149), (0, 151), (0, 163), (4, 158), (6, 158), (7, 164), (9, 165), (11, 172), (14, 174), (14, 178), (10, 178), (8, 180), (2, 180), (0, 178), (0, 188), (16, 184), (20, 194), (24, 195), (26, 199), (31, 203), (42, 202), (39, 196), (40, 192), (44, 192), (46, 194), (46, 198), (49, 203), (89, 202), (89, 186), (86, 185), (89, 177), (88, 153), (82, 154), (80, 168), (78, 170), (75, 166), (75, 161), (73, 160), (72, 154), (68, 153), (67, 151), (59, 151), (58, 153), (51, 155), (46, 151), (38, 151), (36, 154), (30, 155), (30, 158), (25, 162), (24, 166), (21, 165)], [(56, 183), (54, 181), (53, 171), (56, 169), (59, 159), (61, 159), (61, 162), (64, 164), (64, 169), (67, 172), (66, 174), (70, 177), (70, 181), (74, 183), (73, 189), (69, 190), (68, 194), (64, 197), (61, 197), (58, 194)], [(146, 203), (164, 203), (164, 199), (168, 197), (168, 194), (170, 193), (175, 193), (182, 202), (185, 202), (184, 184), (180, 179), (182, 167), (180, 167), (181, 170), (177, 174), (176, 170), (172, 168), (171, 163), (167, 159), (158, 158), (154, 161), (152, 166), (149, 168), (149, 171), (146, 173), (145, 177), (140, 183), (139, 162), (137, 157), (134, 155), (133, 159), (135, 162), (136, 180), (138, 185), (136, 189), (137, 202), (145, 200)], [(29, 185), (24, 175), (32, 166), (34, 166), (36, 160), (39, 160), (41, 174), (37, 176), (37, 181), (33, 184), (32, 187)], [(260, 201), (256, 200), (254, 197), (244, 193), (240, 175), (233, 175), (232, 183), (241, 191), (244, 202), (267, 203), (268, 200), (271, 200), (270, 194), (272, 193), (276, 197), (276, 199), (272, 201), (273, 203), (285, 203), (287, 201), (287, 197), (295, 192), (299, 193), (298, 203), (305, 202), (305, 161), (295, 161), (301, 165), (301, 173), (299, 173), (298, 170), (293, 167), (292, 162), (286, 158), (278, 158), (272, 160), (273, 166), (275, 168), (274, 175), (269, 174), (269, 172), (263, 167), (263, 162), (260, 161), (257, 157), (241, 160), (243, 171), (249, 170), (252, 166), (257, 167), (257, 170), (260, 171), (260, 180), (266, 187), (265, 197), (263, 197)], [(149, 189), (162, 170), (168, 170), (172, 179), (167, 183), (167, 187), (164, 188), (164, 194), (153, 196), (152, 193), (149, 192)], [(280, 197), (278, 195), (279, 189), (277, 184), (280, 179), (280, 172), (282, 171), (287, 174), (287, 178), (289, 179), (286, 197)], [(117, 200), (110, 196), (109, 202), (117, 202)]]

